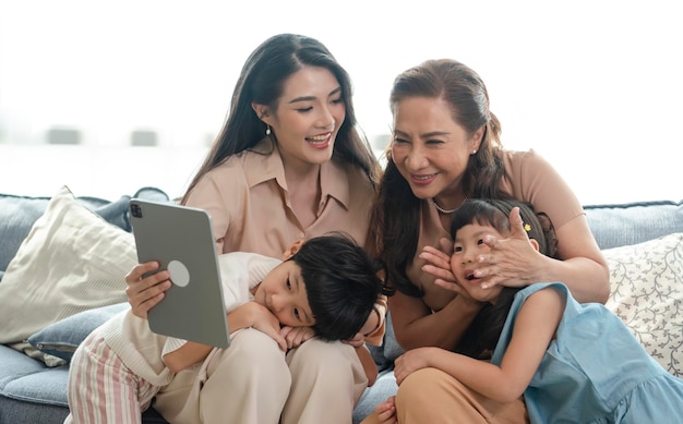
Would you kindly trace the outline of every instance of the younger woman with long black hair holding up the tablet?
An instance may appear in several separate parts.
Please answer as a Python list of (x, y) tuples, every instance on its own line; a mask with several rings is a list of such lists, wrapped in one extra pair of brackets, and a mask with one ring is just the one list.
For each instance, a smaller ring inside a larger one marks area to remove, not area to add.
[[(279, 257), (293, 241), (328, 231), (349, 233), (375, 252), (369, 205), (379, 174), (357, 129), (346, 71), (317, 40), (281, 34), (244, 63), (227, 121), (182, 203), (209, 213), (219, 253)], [(142, 278), (157, 266), (141, 264), (127, 278), (133, 312), (143, 318), (170, 287), (167, 272)], [(155, 409), (170, 422), (277, 423), (281, 415), (283, 424), (348, 424), (374, 378), (354, 346), (381, 342), (384, 312), (383, 298), (347, 343), (292, 330), (285, 335), (286, 356), (255, 330), (216, 352), (187, 343), (181, 349), (197, 364), (208, 361), (207, 379), (177, 375)]]

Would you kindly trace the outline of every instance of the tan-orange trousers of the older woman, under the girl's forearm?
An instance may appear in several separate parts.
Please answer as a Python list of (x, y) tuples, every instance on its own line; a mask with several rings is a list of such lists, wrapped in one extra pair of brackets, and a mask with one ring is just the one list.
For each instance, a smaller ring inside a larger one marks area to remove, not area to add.
[[(529, 417), (522, 398), (500, 403), (467, 388), (436, 368), (410, 374), (396, 392), (399, 424), (527, 424)], [(362, 424), (376, 424), (373, 413)]]

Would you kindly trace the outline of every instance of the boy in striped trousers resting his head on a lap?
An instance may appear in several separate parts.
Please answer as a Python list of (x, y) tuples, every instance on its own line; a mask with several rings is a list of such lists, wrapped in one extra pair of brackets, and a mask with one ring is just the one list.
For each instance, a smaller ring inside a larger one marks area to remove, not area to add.
[[(298, 343), (313, 336), (352, 339), (382, 293), (379, 263), (340, 233), (297, 241), (284, 256), (284, 262), (244, 252), (219, 256), (230, 337), (254, 328), (283, 351), (292, 347), (284, 336), (290, 331), (300, 331)], [(141, 422), (154, 396), (184, 370), (201, 367), (197, 378), (205, 376), (216, 350), (155, 335), (146, 320), (122, 312), (74, 353), (65, 423)], [(363, 365), (371, 366), (369, 361)]]

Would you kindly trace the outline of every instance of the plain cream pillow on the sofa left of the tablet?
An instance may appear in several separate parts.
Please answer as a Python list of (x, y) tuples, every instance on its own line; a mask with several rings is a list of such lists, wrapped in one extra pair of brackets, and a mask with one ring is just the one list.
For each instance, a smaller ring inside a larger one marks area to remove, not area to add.
[(62, 187), (0, 282), (0, 343), (26, 340), (82, 311), (125, 302), (124, 278), (136, 263), (133, 235)]

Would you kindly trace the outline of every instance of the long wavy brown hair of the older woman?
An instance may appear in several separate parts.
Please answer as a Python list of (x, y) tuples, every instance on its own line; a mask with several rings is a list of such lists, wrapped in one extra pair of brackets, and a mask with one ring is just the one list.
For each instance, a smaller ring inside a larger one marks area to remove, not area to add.
[[(477, 153), (470, 156), (463, 175), (467, 197), (498, 198), (503, 177), (501, 124), (489, 110), (489, 93), (481, 77), (465, 64), (450, 59), (428, 60), (394, 80), (390, 96), (392, 111), (406, 98), (429, 97), (444, 100), (451, 116), (469, 134), (484, 128)], [(372, 217), (374, 239), (387, 268), (387, 281), (400, 292), (421, 296), (423, 293), (406, 276), (406, 267), (415, 257), (422, 201), (392, 160), (391, 145), (385, 152), (387, 165), (381, 180), (379, 201)]]

